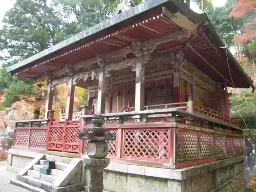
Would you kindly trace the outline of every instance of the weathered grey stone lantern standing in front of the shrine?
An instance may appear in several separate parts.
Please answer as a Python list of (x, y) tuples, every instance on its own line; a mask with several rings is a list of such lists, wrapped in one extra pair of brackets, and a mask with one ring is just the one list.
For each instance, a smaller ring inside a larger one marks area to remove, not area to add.
[(92, 118), (92, 126), (87, 127), (85, 132), (79, 133), (78, 137), (81, 140), (89, 141), (86, 147), (89, 159), (84, 159), (89, 168), (89, 192), (103, 191), (103, 170), (110, 163), (108, 155), (108, 143), (116, 139), (116, 135), (110, 130), (102, 127), (103, 116), (101, 114), (94, 115)]

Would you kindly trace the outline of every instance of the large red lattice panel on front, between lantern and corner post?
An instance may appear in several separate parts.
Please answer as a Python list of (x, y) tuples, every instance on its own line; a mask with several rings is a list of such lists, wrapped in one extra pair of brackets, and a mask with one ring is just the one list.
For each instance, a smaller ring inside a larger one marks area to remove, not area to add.
[(168, 159), (168, 130), (123, 130), (122, 156)]

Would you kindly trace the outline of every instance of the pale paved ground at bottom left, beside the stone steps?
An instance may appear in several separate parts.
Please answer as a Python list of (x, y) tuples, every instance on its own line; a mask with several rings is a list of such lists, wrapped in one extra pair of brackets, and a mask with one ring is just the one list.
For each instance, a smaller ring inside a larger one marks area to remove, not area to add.
[(0, 162), (0, 192), (29, 192), (22, 187), (10, 185), (10, 180), (16, 180), (16, 175), (6, 170), (6, 163)]

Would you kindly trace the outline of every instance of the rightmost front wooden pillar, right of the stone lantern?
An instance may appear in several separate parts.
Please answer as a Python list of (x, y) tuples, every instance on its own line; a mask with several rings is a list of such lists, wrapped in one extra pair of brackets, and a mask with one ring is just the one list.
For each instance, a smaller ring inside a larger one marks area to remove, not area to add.
[(135, 111), (144, 110), (144, 77), (145, 66), (142, 59), (138, 59), (136, 63)]

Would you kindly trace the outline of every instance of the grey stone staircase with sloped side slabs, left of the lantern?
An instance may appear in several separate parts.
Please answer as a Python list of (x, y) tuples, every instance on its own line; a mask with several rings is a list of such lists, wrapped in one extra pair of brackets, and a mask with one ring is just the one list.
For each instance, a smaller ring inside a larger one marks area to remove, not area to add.
[(34, 192), (78, 192), (81, 170), (81, 159), (40, 154), (10, 183)]

